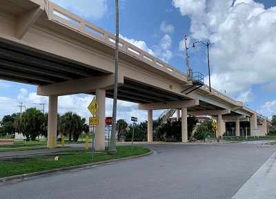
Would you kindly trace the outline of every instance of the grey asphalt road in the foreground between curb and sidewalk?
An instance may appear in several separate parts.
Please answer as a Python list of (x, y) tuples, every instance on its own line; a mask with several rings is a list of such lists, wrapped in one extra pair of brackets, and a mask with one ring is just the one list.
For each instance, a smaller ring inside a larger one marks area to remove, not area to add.
[(144, 158), (0, 187), (3, 198), (232, 198), (272, 155), (266, 144), (144, 144)]

